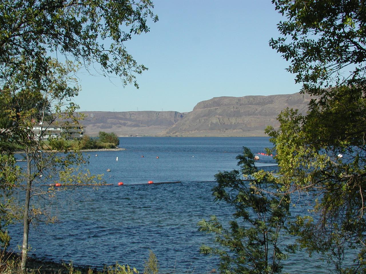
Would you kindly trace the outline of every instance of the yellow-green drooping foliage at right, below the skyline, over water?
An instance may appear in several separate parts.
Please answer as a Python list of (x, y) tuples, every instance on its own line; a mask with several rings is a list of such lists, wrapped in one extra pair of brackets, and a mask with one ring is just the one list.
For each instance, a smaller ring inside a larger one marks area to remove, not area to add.
[[(334, 262), (335, 256), (343, 258), (350, 249), (363, 254), (366, 240), (365, 115), (359, 112), (364, 99), (356, 90), (339, 87), (328, 94), (327, 103), (310, 105), (306, 116), (284, 110), (279, 128), (268, 128), (267, 133), (277, 153), (276, 180), (282, 191), (298, 191), (300, 197), (306, 192), (315, 201), (311, 216), (300, 214), (292, 222), (292, 235), (298, 236), (299, 247), (309, 254), (319, 252)], [(364, 269), (358, 258), (355, 262)], [(342, 269), (343, 261), (337, 259), (335, 267)]]

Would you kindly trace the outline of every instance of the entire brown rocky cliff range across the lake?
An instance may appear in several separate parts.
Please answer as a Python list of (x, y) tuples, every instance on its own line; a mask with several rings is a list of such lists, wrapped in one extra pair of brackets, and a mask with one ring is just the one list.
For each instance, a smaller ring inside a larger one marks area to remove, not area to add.
[(215, 97), (199, 102), (192, 111), (86, 111), (86, 134), (115, 132), (118, 136), (265, 136), (268, 125), (286, 107), (305, 114), (310, 96)]

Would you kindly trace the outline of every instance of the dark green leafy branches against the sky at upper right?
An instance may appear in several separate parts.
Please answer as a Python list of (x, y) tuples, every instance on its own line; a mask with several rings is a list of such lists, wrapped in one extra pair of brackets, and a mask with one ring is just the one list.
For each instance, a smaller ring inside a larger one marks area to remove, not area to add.
[[(288, 71), (302, 83), (302, 92), (322, 95), (321, 88), (364, 87), (365, 6), (362, 1), (272, 1), (286, 17), (281, 37), (269, 45), (290, 61)], [(286, 39), (290, 38), (290, 39)], [(365, 90), (365, 88), (363, 88)]]

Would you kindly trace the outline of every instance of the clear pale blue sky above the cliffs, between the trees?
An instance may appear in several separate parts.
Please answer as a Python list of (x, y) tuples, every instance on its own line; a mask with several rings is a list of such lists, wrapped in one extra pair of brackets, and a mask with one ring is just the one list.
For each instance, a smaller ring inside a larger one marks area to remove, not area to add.
[(153, 0), (157, 23), (125, 43), (139, 64), (139, 89), (119, 79), (80, 76), (81, 111), (191, 111), (218, 96), (300, 90), (288, 63), (268, 46), (284, 20), (270, 0)]

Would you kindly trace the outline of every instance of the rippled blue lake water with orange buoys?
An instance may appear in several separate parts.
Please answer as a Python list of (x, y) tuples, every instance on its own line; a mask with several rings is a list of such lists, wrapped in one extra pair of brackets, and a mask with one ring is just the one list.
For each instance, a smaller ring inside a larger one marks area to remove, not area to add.
[[(243, 146), (259, 153), (271, 144), (266, 137), (128, 137), (120, 138), (125, 151), (90, 152), (90, 171), (104, 173), (113, 186), (57, 194), (53, 211), (59, 221), (31, 229), (30, 255), (96, 267), (118, 261), (142, 273), (151, 249), (162, 273), (217, 269), (217, 258), (199, 253), (203, 243), (212, 243), (213, 235), (198, 232), (196, 224), (213, 214), (223, 223), (231, 219), (233, 209), (215, 203), (211, 189), (214, 174), (236, 168), (235, 157)], [(275, 163), (270, 156), (260, 158), (262, 163)], [(108, 168), (111, 172), (106, 172)], [(149, 180), (181, 182), (146, 184)], [(10, 227), (10, 233), (11, 248), (17, 250), (22, 226)], [(328, 273), (321, 265), (299, 253), (284, 270)]]

